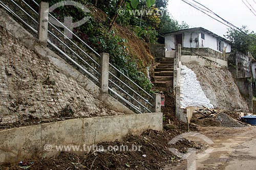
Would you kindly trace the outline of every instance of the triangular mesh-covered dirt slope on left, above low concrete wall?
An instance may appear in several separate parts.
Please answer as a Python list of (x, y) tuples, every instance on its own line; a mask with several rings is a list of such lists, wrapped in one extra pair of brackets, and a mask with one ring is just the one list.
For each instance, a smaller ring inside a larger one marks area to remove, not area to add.
[(123, 114), (110, 110), (2, 27), (0, 40), (0, 129)]

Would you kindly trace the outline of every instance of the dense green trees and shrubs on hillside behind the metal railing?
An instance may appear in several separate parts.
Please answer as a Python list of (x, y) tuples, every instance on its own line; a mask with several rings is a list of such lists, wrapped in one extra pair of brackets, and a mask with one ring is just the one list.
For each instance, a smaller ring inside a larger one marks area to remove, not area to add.
[[(44, 2), (52, 6), (61, 1), (45, 0)], [(92, 46), (96, 52), (109, 53), (110, 62), (113, 65), (146, 91), (152, 92), (153, 85), (145, 76), (146, 68), (152, 64), (152, 61), (150, 62), (147, 56), (143, 59), (136, 56), (136, 53), (131, 53), (133, 49), (127, 40), (129, 37), (126, 36), (124, 39), (122, 35), (118, 35), (116, 27), (119, 25), (123, 29), (129, 29), (143, 43), (157, 43), (158, 37), (164, 32), (188, 28), (186, 23), (182, 22), (180, 25), (168, 15), (166, 12), (168, 0), (80, 0), (77, 2), (89, 8), (91, 13), (84, 13), (74, 6), (62, 6), (55, 9), (52, 14), (62, 22), (66, 16), (72, 16), (73, 22), (84, 16), (91, 16), (86, 24), (75, 28), (73, 32)], [(124, 13), (120, 13), (120, 9)]]

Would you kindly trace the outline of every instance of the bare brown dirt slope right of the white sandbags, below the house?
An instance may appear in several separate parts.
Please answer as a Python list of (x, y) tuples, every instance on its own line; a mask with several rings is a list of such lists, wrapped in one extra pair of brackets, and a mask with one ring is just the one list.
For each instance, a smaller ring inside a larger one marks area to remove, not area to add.
[(195, 71), (205, 95), (216, 109), (241, 112), (249, 110), (227, 68), (194, 64), (187, 64), (186, 66)]

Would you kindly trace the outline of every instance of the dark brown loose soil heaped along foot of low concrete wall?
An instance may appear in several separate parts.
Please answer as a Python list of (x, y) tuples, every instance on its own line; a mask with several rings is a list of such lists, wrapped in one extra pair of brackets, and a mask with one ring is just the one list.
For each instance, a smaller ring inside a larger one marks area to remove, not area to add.
[[(29, 169), (161, 169), (166, 164), (176, 165), (180, 159), (177, 158), (168, 148), (176, 148), (182, 153), (186, 153), (188, 148), (200, 149), (200, 144), (187, 139), (181, 139), (173, 145), (168, 142), (179, 135), (177, 130), (153, 131), (147, 130), (141, 135), (128, 135), (122, 142), (102, 142), (103, 148), (108, 146), (132, 145), (141, 146), (140, 151), (98, 151), (89, 152), (86, 155), (75, 155), (71, 153), (61, 153), (52, 158), (42, 158), (35, 160), (25, 160), (34, 162)], [(20, 169), (16, 164), (5, 163), (0, 166), (1, 170)], [(24, 160), (23, 160), (24, 161)]]

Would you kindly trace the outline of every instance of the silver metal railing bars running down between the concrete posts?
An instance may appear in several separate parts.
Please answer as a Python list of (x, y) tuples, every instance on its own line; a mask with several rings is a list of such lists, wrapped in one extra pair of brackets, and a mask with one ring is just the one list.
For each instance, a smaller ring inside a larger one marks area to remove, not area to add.
[[(14, 1), (11, 0), (11, 2), (13, 4), (15, 4), (20, 10), (22, 10), (26, 15), (28, 15), (30, 18), (32, 18), (32, 20), (34, 22), (37, 23), (38, 25), (38, 21), (36, 21), (32, 16), (30, 16), (30, 14), (28, 14), (24, 9), (22, 9), (19, 5), (17, 5)], [(28, 5), (24, 0), (22, 0), (23, 3), (25, 3), (35, 14), (39, 15), (38, 12), (36, 12), (30, 5)], [(39, 5), (32, 0), (32, 2), (34, 4), (36, 4), (38, 7)], [(37, 30), (35, 30), (34, 28), (32, 28), (31, 26), (29, 26), (29, 24), (27, 22), (25, 22), (22, 18), (20, 18), (15, 12), (13, 12), (9, 7), (7, 7), (3, 2), (0, 1), (0, 5), (6, 9), (7, 11), (9, 11), (10, 13), (12, 13), (15, 17), (17, 17), (20, 21), (22, 21), (28, 28), (30, 28), (33, 32), (35, 32), (37, 34)], [(58, 21), (52, 14), (49, 13), (50, 16), (52, 16), (56, 21)], [(101, 57), (97, 52), (95, 52), (88, 44), (86, 44), (83, 40), (81, 40), (76, 34), (74, 34), (71, 30), (69, 30), (65, 25), (63, 25), (63, 23), (61, 23), (60, 21), (58, 21), (60, 25), (62, 25), (62, 27), (66, 28), (69, 32), (72, 33), (72, 35), (74, 35), (83, 45), (85, 45), (91, 52), (93, 52), (97, 57)], [(86, 55), (89, 59), (91, 59), (94, 63), (96, 63), (96, 65), (100, 66), (93, 58), (91, 58), (86, 52), (84, 52), (76, 43), (74, 43), (71, 39), (69, 39), (65, 34), (63, 34), (59, 29), (57, 29), (51, 22), (49, 22), (49, 24), (61, 35), (65, 36), (68, 40), (70, 40), (70, 42), (72, 44), (75, 45), (76, 48), (79, 49), (80, 52), (82, 52), (84, 55)], [(66, 43), (64, 43), (63, 41), (61, 41), (56, 35), (54, 35), (52, 32), (49, 31), (49, 33), (56, 38), (58, 41), (60, 41), (60, 43), (62, 43), (63, 45), (65, 45), (73, 54), (75, 54), (76, 57), (78, 57), (80, 60), (82, 60), (84, 63), (86, 63), (86, 65), (88, 65), (90, 68), (93, 69), (93, 71), (95, 71), (98, 75), (99, 72), (92, 67), (89, 63), (87, 63), (85, 60), (83, 60), (76, 52), (74, 52)], [(63, 52), (58, 46), (56, 46), (51, 40), (47, 40), (49, 42), (49, 44), (51, 46), (53, 46), (58, 52), (60, 52), (62, 55), (64, 55), (66, 58), (68, 58), (71, 62), (73, 62), (76, 66), (78, 66), (79, 68), (81, 68), (84, 72), (86, 72), (86, 74), (88, 74), (91, 78), (93, 78), (97, 83), (99, 83), (98, 79), (93, 76), (89, 71), (87, 71), (84, 67), (82, 67), (80, 64), (78, 64), (76, 61), (74, 61), (71, 57), (69, 57), (69, 55), (67, 55), (65, 52)], [(112, 64), (110, 64), (111, 67), (113, 67), (117, 72), (119, 72), (126, 80), (128, 80), (129, 82), (131, 82), (133, 85), (135, 85), (139, 90), (143, 91), (147, 96), (149, 96), (151, 99), (154, 99), (152, 95), (148, 94), (144, 89), (142, 89), (140, 86), (138, 86), (135, 82), (133, 82), (130, 78), (128, 78), (127, 76), (125, 76), (120, 70), (118, 70), (115, 66), (113, 66)], [(129, 85), (125, 84), (123, 81), (121, 81), (119, 78), (117, 78), (114, 74), (112, 74), (110, 72), (110, 75), (113, 76), (117, 81), (121, 82), (121, 84), (123, 84), (125, 87), (129, 88), (132, 92), (134, 92), (139, 98), (141, 98), (143, 101), (145, 101), (146, 104), (149, 104), (151, 107), (153, 107), (153, 105), (148, 102), (148, 100), (146, 100), (142, 95), (140, 95), (138, 92), (136, 92), (134, 89), (132, 89)], [(118, 87), (118, 89), (120, 89), (122, 92), (124, 92), (126, 95), (128, 95), (132, 100), (134, 100), (136, 103), (138, 103), (143, 109), (147, 110), (148, 112), (151, 112), (151, 110), (149, 110), (146, 106), (144, 106), (142, 103), (140, 103), (138, 100), (136, 100), (131, 94), (127, 93), (125, 90), (123, 90), (121, 87), (119, 87), (116, 83), (114, 83), (112, 80), (109, 80), (112, 84), (114, 84), (116, 87)], [(140, 109), (138, 107), (136, 107), (134, 104), (132, 104), (131, 102), (127, 101), (126, 99), (124, 99), (120, 94), (118, 94), (117, 92), (115, 92), (113, 89), (109, 88), (109, 90), (111, 92), (113, 92), (115, 95), (118, 96), (119, 99), (121, 99), (122, 101), (124, 101), (126, 104), (128, 104), (129, 106), (131, 106), (134, 110), (136, 110), (137, 112), (141, 113)]]

